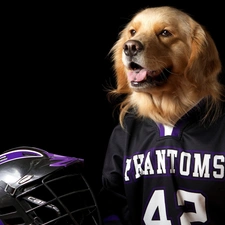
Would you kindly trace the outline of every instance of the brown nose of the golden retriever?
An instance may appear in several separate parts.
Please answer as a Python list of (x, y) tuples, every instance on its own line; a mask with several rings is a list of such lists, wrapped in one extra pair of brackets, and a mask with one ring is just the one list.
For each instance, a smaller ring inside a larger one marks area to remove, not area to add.
[(144, 46), (137, 40), (129, 40), (123, 45), (125, 55), (130, 57), (137, 55), (138, 52), (143, 50), (143, 48)]

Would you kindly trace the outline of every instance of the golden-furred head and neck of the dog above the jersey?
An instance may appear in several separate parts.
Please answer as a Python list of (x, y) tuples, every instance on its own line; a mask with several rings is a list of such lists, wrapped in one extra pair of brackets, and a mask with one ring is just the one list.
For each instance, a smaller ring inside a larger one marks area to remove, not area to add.
[(222, 95), (218, 51), (205, 28), (185, 12), (168, 6), (137, 12), (110, 53), (117, 87), (109, 94), (125, 95), (121, 124), (133, 108), (140, 117), (174, 125), (203, 98), (208, 112), (217, 115)]

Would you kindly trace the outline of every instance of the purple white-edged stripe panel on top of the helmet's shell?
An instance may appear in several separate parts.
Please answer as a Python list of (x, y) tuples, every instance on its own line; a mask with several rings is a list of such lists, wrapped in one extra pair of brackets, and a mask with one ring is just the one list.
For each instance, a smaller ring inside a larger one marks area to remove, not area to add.
[(43, 154), (32, 150), (14, 150), (0, 155), (0, 165), (12, 160), (42, 157)]

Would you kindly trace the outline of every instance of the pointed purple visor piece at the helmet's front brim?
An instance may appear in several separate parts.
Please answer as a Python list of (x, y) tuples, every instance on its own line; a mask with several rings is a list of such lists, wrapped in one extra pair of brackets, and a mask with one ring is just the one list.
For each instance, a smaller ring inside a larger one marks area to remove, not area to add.
[(57, 155), (57, 154), (52, 154), (49, 152), (45, 152), (45, 153), (51, 161), (54, 161), (53, 163), (50, 164), (50, 166), (52, 167), (68, 166), (74, 162), (79, 163), (84, 161), (83, 159), (80, 159), (80, 158)]

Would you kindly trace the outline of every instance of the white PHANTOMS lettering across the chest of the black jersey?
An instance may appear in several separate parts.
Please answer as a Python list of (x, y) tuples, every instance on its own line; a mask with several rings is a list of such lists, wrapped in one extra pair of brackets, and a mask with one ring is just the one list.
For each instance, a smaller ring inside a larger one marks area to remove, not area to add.
[(151, 150), (125, 161), (124, 179), (175, 174), (192, 178), (224, 179), (225, 155), (200, 154), (175, 149)]

